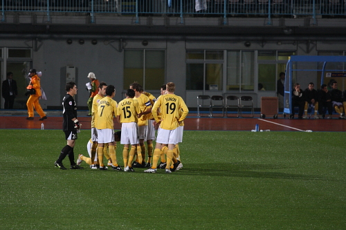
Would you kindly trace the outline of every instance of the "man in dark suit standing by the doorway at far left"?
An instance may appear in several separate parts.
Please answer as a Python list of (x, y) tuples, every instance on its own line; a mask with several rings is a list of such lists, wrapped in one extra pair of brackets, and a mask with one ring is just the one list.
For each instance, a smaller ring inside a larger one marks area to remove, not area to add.
[(15, 97), (18, 95), (17, 82), (12, 79), (13, 73), (6, 74), (6, 80), (2, 82), (2, 97), (5, 99), (4, 108), (13, 108)]

